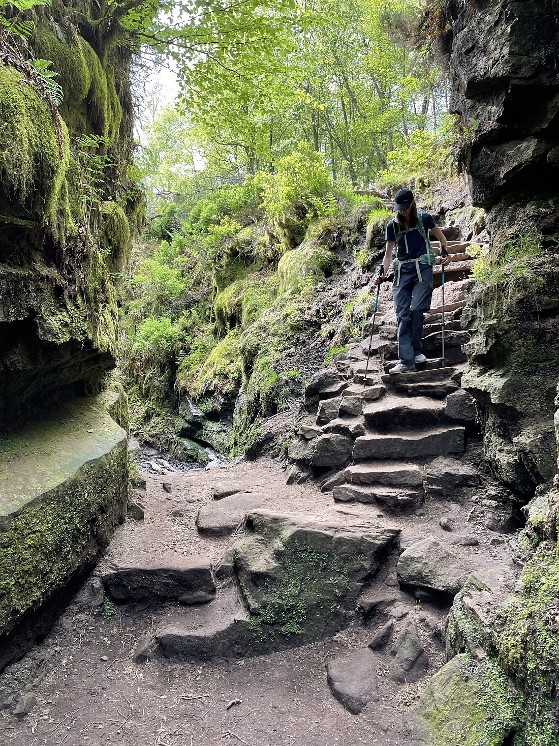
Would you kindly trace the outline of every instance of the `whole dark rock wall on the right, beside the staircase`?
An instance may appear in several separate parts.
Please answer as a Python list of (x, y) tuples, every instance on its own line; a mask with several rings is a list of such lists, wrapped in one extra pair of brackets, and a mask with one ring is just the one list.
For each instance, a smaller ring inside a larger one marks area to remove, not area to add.
[(555, 474), (559, 368), (559, 2), (449, 3), (451, 110), (490, 251), (463, 323), (462, 385), (479, 403), (487, 458), (528, 499)]

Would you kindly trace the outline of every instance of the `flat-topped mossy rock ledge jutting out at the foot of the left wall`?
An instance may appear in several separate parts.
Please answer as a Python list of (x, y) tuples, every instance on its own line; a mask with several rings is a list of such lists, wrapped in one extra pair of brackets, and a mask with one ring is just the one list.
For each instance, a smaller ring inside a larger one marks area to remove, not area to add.
[(127, 433), (110, 416), (123, 413), (120, 399), (75, 399), (0, 439), (0, 650), (92, 567), (124, 520)]

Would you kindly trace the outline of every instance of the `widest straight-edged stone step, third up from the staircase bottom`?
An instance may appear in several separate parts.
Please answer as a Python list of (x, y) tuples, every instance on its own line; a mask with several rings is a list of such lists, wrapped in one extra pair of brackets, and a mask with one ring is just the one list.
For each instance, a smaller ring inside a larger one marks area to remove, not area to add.
[(408, 433), (370, 433), (353, 446), (353, 461), (413, 459), (422, 456), (460, 454), (465, 448), (464, 427), (435, 427)]

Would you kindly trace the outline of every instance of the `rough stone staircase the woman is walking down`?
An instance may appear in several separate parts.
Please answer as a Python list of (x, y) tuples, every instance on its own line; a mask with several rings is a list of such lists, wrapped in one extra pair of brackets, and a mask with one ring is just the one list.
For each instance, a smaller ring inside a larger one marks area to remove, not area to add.
[[(435, 247), (439, 248), (437, 243)], [(313, 380), (309, 382), (307, 390), (318, 395), (316, 423), (323, 434), (300, 430), (308, 445), (298, 463), (292, 459), (296, 464), (288, 479), (304, 478), (297, 477), (297, 468), (311, 466), (316, 473), (329, 466), (322, 489), (332, 489), (335, 501), (376, 503), (395, 513), (420, 509), (426, 465), (437, 457), (463, 453), (467, 430), (473, 427), (473, 400), (460, 385), (465, 362), (461, 345), (469, 341), (461, 329), (473, 264), (469, 247), (458, 241), (448, 245), (452, 260), (445, 270), (445, 360), (440, 357), (440, 266), (434, 269), (437, 289), (423, 328), (427, 362), (416, 372), (388, 373), (398, 357), (397, 325), (391, 287), (383, 285), (371, 342), (365, 336), (363, 342), (348, 345), (347, 359), (317, 382), (318, 391)], [(364, 331), (370, 333), (370, 322)], [(297, 457), (296, 449), (291, 455)], [(332, 474), (341, 466), (345, 468)]]

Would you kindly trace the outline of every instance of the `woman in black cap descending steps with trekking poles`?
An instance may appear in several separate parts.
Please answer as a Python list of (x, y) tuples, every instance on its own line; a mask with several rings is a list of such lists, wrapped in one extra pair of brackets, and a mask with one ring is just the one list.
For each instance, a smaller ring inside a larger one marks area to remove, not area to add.
[(398, 325), (398, 363), (389, 373), (411, 373), (415, 363), (426, 363), (421, 349), (423, 315), (431, 307), (433, 293), (433, 265), (437, 263), (435, 251), (429, 242), (429, 231), (440, 241), (440, 263), (446, 266), (446, 238), (429, 213), (417, 210), (411, 189), (398, 189), (394, 197), (396, 216), (386, 226), (386, 251), (382, 260), (382, 274), (375, 284), (382, 283), (388, 275), (394, 243), (397, 245), (394, 261), (394, 313)]

